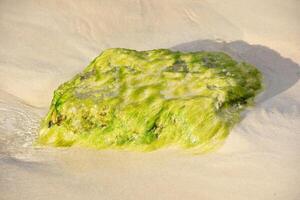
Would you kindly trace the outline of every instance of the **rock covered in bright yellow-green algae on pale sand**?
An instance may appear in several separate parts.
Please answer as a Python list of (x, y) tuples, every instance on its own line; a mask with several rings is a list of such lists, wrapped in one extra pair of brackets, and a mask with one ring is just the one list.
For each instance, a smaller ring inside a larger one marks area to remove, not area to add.
[(54, 92), (38, 144), (206, 152), (261, 87), (254, 66), (221, 52), (108, 49)]

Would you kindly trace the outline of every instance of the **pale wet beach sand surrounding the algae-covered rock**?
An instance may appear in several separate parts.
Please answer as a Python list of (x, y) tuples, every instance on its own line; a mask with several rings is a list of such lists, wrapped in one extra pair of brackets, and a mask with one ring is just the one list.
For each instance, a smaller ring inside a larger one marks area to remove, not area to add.
[[(0, 0), (0, 199), (300, 199), (299, 10), (297, 0)], [(204, 156), (32, 148), (53, 90), (109, 47), (225, 51), (257, 65), (267, 88)]]

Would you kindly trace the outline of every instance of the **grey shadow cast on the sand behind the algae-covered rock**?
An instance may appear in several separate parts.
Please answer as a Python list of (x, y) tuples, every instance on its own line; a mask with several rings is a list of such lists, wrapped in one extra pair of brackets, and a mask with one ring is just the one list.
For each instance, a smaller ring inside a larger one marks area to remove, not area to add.
[(244, 41), (218, 42), (196, 40), (170, 48), (175, 51), (222, 51), (239, 61), (255, 65), (264, 77), (264, 91), (257, 98), (262, 103), (292, 87), (300, 77), (299, 65), (282, 57), (276, 51), (262, 46), (250, 45)]

